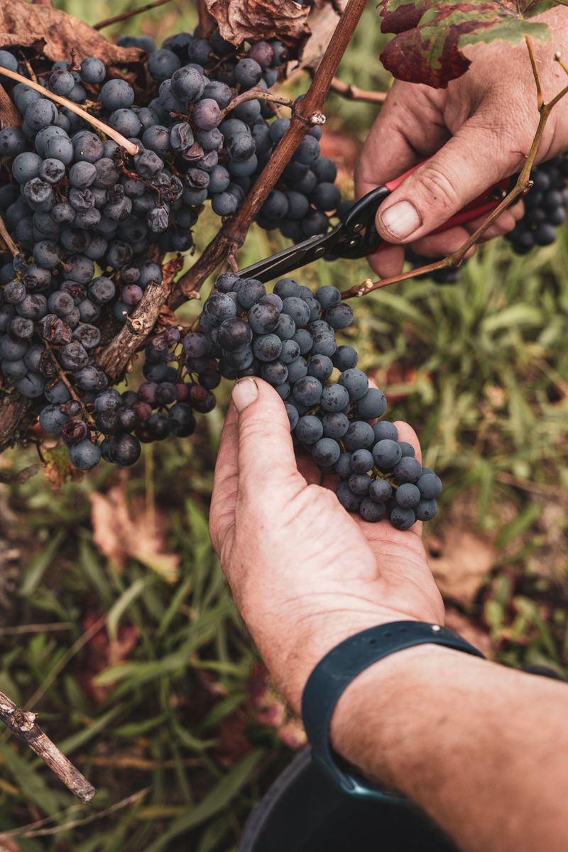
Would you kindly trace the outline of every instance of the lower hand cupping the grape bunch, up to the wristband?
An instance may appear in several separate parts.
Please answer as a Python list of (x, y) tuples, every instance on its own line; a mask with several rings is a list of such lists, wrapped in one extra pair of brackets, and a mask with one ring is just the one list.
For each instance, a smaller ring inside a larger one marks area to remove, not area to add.
[[(349, 514), (339, 477), (300, 450), (276, 391), (245, 378), (215, 467), (209, 531), (237, 607), (278, 688), (299, 711), (307, 677), (336, 644), (401, 619), (444, 623), (422, 524), (400, 532)], [(236, 411), (235, 411), (236, 410)], [(420, 447), (406, 423), (400, 440)]]

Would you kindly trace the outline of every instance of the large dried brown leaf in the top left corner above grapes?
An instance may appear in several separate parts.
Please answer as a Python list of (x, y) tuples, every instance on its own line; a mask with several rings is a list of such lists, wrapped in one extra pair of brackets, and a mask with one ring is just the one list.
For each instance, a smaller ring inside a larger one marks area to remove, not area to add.
[(105, 65), (127, 65), (144, 55), (139, 48), (120, 48), (107, 42), (82, 20), (59, 9), (25, 0), (2, 0), (0, 4), (0, 48), (10, 47), (37, 49), (54, 62), (69, 59), (72, 49), (77, 62), (95, 56)]

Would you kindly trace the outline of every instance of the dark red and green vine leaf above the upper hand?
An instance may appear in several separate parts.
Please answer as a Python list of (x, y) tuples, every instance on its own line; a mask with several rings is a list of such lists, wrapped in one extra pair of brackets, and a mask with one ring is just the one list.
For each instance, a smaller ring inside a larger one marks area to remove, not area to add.
[[(564, 4), (564, 3), (562, 3)], [(553, 0), (509, 5), (496, 0), (382, 0), (382, 32), (395, 37), (382, 51), (382, 64), (398, 80), (445, 89), (468, 70), (462, 50), (497, 39), (517, 45), (526, 35), (542, 43), (547, 24), (526, 20), (559, 5)], [(535, 11), (536, 9), (536, 11)]]

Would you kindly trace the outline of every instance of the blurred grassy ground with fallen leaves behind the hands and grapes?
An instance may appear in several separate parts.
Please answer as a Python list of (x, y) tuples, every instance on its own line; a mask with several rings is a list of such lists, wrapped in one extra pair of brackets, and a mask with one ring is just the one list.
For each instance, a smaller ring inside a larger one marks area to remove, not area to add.
[[(94, 24), (135, 3), (54, 5)], [(192, 4), (173, 2), (104, 32), (161, 43), (196, 24)], [(381, 40), (370, 5), (338, 76), (386, 90)], [(299, 94), (308, 83), (304, 74), (289, 89)], [(324, 153), (338, 160), (349, 197), (377, 107), (330, 95), (326, 112)], [(200, 219), (198, 250), (217, 227), (214, 216)], [(254, 226), (239, 263), (284, 245)], [(364, 261), (320, 261), (297, 278), (343, 290), (367, 275)], [(512, 256), (502, 240), (486, 245), (456, 285), (411, 279), (354, 307), (344, 342), (387, 393), (387, 417), (414, 426), (427, 465), (445, 482), (426, 544), (449, 625), (506, 665), (565, 675), (565, 229), (529, 256)], [(194, 301), (179, 315), (199, 310)], [(136, 386), (136, 372), (129, 381)], [(80, 805), (0, 732), (0, 847), (9, 852), (229, 852), (250, 809), (305, 744), (209, 543), (230, 384), (216, 395), (191, 440), (145, 445), (132, 469), (102, 463), (59, 487), (41, 471), (0, 486), (0, 690), (41, 713), (99, 790)], [(55, 465), (57, 449), (43, 449)], [(28, 446), (5, 453), (0, 466), (14, 473), (36, 462)]]

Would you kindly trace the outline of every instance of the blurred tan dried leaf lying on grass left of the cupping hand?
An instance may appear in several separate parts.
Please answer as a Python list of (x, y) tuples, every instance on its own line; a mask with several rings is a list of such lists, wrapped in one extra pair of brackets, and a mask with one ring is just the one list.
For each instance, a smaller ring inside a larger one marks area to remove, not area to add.
[(129, 559), (136, 559), (168, 583), (175, 582), (180, 556), (164, 553), (167, 529), (158, 512), (152, 527), (141, 501), (127, 505), (124, 483), (106, 494), (91, 494), (91, 504), (93, 540), (118, 571), (123, 571)]

